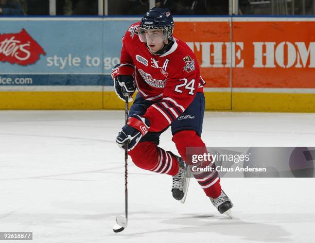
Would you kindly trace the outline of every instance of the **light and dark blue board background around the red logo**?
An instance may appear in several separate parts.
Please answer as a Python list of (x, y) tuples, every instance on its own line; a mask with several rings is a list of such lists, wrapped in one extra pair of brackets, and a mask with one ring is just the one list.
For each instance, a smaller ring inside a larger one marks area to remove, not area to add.
[[(112, 85), (110, 73), (119, 63), (121, 38), (135, 21), (5, 18), (0, 22), (0, 35), (19, 33), (24, 28), (46, 53), (26, 66), (0, 61), (1, 77), (30, 77), (32, 85)], [(69, 65), (69, 55), (80, 59), (79, 66)], [(66, 60), (64, 67), (60, 59)]]

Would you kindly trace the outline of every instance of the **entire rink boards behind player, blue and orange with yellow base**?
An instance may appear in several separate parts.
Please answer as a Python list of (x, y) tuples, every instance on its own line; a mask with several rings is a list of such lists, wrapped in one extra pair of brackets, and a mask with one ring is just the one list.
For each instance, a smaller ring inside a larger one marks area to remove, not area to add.
[[(124, 109), (110, 72), (138, 18), (2, 18), (0, 109)], [(315, 112), (315, 18), (176, 18), (207, 110)]]

